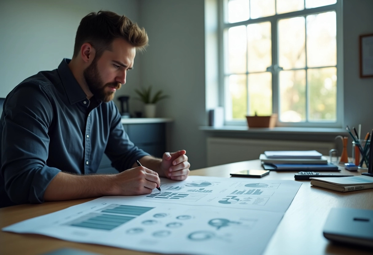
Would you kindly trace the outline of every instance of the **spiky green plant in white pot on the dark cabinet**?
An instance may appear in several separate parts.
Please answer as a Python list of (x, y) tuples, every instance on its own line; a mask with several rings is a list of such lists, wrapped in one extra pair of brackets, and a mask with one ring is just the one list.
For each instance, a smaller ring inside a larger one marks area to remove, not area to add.
[(145, 118), (154, 118), (156, 116), (156, 103), (164, 98), (168, 98), (168, 95), (163, 95), (163, 91), (159, 90), (151, 97), (152, 86), (148, 88), (135, 89), (136, 94), (139, 98), (137, 100), (142, 101), (144, 105)]

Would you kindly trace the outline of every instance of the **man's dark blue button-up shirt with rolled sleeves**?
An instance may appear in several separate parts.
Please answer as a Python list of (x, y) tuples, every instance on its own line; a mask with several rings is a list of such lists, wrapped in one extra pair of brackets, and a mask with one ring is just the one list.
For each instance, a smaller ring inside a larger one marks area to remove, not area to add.
[(57, 173), (95, 173), (103, 153), (118, 171), (149, 155), (129, 140), (113, 101), (87, 99), (69, 62), (25, 79), (6, 97), (0, 119), (0, 207), (43, 202)]

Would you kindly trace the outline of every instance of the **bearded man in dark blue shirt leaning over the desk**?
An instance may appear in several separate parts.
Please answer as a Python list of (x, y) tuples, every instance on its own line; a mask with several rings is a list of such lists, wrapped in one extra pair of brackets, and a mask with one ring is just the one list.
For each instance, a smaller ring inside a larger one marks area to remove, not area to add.
[[(1, 207), (103, 195), (140, 195), (159, 176), (185, 180), (185, 151), (154, 158), (128, 138), (113, 103), (145, 30), (125, 16), (85, 16), (74, 54), (58, 69), (27, 78), (7, 95), (0, 120)], [(96, 173), (103, 153), (120, 173)], [(142, 166), (138, 167), (136, 160)]]

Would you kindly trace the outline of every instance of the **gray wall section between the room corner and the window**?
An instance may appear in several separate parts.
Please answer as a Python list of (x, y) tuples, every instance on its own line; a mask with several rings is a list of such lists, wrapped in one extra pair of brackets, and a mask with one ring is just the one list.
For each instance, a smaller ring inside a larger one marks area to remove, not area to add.
[(141, 56), (141, 85), (162, 88), (170, 98), (159, 116), (174, 119), (170, 151), (185, 149), (191, 169), (206, 166), (204, 1), (143, 0), (141, 22), (149, 47)]

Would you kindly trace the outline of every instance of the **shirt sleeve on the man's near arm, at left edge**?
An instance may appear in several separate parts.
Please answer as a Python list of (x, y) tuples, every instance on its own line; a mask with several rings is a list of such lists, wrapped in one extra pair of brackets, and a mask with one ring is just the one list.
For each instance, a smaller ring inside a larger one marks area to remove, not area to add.
[(53, 106), (43, 86), (20, 84), (4, 105), (0, 173), (16, 204), (43, 202), (48, 184), (60, 172), (46, 165)]

